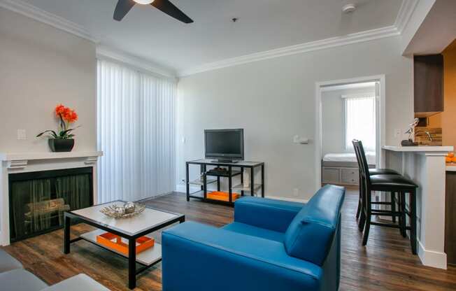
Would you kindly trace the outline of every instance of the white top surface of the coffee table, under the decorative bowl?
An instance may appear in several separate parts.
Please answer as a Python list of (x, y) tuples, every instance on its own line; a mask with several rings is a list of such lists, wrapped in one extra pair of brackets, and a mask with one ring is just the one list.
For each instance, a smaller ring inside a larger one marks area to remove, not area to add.
[(101, 208), (110, 206), (112, 204), (122, 205), (122, 201), (114, 201), (108, 204), (99, 204), (96, 206), (79, 209), (76, 211), (71, 211), (71, 213), (87, 218), (87, 220), (92, 220), (98, 224), (104, 225), (105, 227), (112, 228), (118, 232), (122, 232), (128, 235), (135, 235), (139, 232), (143, 232), (147, 229), (157, 227), (166, 222), (178, 218), (180, 215), (175, 213), (168, 213), (165, 211), (159, 211), (152, 208), (145, 208), (142, 213), (132, 217), (132, 218), (110, 218), (100, 212)]

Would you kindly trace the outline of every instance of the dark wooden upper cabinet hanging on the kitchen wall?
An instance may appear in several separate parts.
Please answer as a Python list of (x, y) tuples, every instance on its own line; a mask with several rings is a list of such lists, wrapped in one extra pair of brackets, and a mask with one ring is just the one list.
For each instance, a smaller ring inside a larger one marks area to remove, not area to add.
[(415, 116), (427, 117), (443, 111), (443, 55), (414, 58)]

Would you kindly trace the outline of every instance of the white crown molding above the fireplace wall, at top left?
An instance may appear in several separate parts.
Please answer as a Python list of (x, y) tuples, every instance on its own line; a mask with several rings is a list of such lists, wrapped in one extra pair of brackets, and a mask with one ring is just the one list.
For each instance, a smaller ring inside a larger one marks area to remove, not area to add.
[(97, 37), (93, 36), (90, 31), (81, 27), (79, 24), (66, 20), (55, 14), (48, 13), (47, 11), (37, 8), (22, 0), (0, 0), (0, 7), (30, 17), (36, 21), (43, 22), (57, 29), (69, 32), (70, 34), (85, 38), (94, 43), (99, 43)]

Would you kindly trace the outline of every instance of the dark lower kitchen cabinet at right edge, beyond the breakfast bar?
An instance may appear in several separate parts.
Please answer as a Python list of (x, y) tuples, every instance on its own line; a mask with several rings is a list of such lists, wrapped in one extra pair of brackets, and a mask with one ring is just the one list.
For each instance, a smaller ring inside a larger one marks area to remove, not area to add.
[(445, 253), (448, 264), (456, 264), (456, 172), (446, 172)]

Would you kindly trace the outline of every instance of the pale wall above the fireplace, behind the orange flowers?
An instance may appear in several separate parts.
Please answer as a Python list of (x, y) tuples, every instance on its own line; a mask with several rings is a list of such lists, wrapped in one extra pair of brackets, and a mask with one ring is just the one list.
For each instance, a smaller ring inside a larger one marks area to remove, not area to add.
[(0, 152), (49, 151), (34, 136), (57, 129), (59, 103), (79, 115), (74, 150), (96, 150), (96, 87), (94, 43), (0, 8)]

